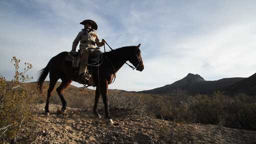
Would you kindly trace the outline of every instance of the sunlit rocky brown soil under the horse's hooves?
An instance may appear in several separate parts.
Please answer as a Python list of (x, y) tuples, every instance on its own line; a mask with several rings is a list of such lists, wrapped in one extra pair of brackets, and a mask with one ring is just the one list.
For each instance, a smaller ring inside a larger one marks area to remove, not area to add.
[(58, 115), (60, 106), (49, 105), (51, 113), (45, 116), (43, 107), (37, 104), (33, 111), (40, 129), (31, 143), (256, 143), (256, 131), (179, 124), (121, 110), (110, 111), (114, 124), (108, 125), (91, 110), (68, 107)]

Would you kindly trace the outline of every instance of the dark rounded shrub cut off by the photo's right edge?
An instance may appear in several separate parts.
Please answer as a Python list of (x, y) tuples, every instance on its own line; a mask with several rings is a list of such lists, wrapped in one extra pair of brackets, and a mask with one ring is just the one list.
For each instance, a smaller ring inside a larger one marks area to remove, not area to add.
[(245, 94), (236, 95), (226, 105), (224, 126), (231, 128), (242, 128), (256, 130), (256, 104), (251, 97)]

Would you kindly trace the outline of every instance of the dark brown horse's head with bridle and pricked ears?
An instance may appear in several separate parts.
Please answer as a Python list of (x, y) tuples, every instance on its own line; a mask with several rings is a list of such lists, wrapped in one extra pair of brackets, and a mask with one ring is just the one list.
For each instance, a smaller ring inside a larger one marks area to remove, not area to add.
[(139, 46), (140, 44), (138, 44), (138, 46), (135, 46), (134, 53), (131, 53), (129, 62), (132, 63), (133, 66), (135, 66), (136, 70), (142, 71), (144, 69), (144, 65), (140, 55)]

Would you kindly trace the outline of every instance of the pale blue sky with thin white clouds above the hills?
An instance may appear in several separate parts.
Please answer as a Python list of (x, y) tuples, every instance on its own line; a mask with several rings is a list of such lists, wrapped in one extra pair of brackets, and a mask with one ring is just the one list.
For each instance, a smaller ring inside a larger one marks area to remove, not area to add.
[(248, 77), (256, 72), (255, 7), (255, 0), (0, 0), (0, 73), (13, 78), (16, 56), (20, 70), (33, 65), (27, 74), (36, 81), (51, 57), (71, 50), (79, 23), (92, 19), (112, 48), (141, 43), (144, 70), (123, 65), (111, 89), (153, 89), (188, 73)]

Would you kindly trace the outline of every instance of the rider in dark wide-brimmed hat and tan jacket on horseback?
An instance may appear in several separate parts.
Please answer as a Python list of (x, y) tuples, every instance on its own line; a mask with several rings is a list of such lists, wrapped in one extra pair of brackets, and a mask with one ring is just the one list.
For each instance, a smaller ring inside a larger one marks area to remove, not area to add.
[[(98, 34), (94, 31), (97, 30), (97, 24), (90, 19), (83, 20), (80, 22), (80, 24), (84, 25), (84, 28), (81, 29), (77, 36), (75, 37), (73, 44), (72, 44), (72, 50), (70, 53), (74, 53), (77, 44), (80, 41), (79, 49), (80, 49), (80, 69), (79, 69), (79, 78), (82, 83), (85, 83), (85, 79), (88, 80), (91, 75), (86, 72), (87, 69), (87, 61), (89, 53), (87, 52), (88, 47), (95, 48), (95, 44), (98, 47), (101, 47), (105, 44), (105, 39), (102, 39), (102, 41), (99, 40)], [(93, 30), (94, 29), (94, 30)]]

